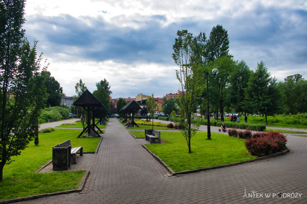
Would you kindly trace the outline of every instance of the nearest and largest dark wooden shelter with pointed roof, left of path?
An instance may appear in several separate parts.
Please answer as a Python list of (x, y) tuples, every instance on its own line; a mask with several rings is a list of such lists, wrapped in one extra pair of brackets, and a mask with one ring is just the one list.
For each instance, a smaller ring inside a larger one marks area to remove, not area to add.
[[(83, 129), (78, 137), (80, 137), (85, 131), (88, 135), (96, 134), (99, 136), (98, 132), (95, 130), (95, 127), (102, 133), (102, 131), (95, 124), (95, 108), (102, 107), (103, 104), (88, 90), (73, 103), (74, 106), (81, 106), (87, 111), (87, 126)], [(93, 122), (91, 124), (91, 112), (93, 113)], [(91, 131), (93, 133), (91, 134)]]

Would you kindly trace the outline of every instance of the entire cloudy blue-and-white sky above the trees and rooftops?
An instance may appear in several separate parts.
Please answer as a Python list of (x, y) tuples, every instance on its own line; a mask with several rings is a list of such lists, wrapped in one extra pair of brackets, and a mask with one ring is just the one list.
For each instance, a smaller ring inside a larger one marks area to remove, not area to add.
[(262, 60), (278, 80), (307, 79), (306, 1), (28, 0), (25, 13), (26, 37), (39, 40), (66, 96), (80, 78), (91, 92), (106, 78), (113, 98), (177, 92), (177, 30), (209, 36), (217, 24), (235, 60), (250, 69)]

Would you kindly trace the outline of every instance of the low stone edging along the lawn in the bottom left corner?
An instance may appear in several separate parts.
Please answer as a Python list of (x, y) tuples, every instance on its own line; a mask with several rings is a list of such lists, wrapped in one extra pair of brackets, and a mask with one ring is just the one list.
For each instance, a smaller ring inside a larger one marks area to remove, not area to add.
[(26, 200), (32, 200), (35, 198), (41, 198), (41, 197), (47, 197), (47, 196), (52, 196), (52, 195), (60, 195), (60, 194), (67, 194), (67, 193), (74, 193), (74, 192), (80, 192), (84, 188), (86, 179), (88, 175), (90, 174), (90, 171), (87, 170), (81, 180), (81, 183), (78, 187), (78, 189), (75, 190), (69, 190), (69, 191), (61, 191), (61, 192), (56, 192), (56, 193), (45, 193), (45, 194), (40, 194), (40, 195), (33, 195), (33, 196), (28, 196), (28, 197), (23, 197), (23, 198), (15, 198), (15, 199), (10, 199), (10, 200), (4, 200), (0, 201), (0, 203), (12, 203), (12, 202), (20, 202), (20, 201), (26, 201)]

